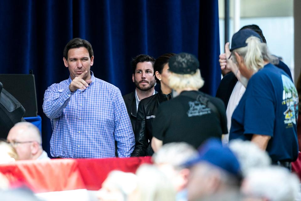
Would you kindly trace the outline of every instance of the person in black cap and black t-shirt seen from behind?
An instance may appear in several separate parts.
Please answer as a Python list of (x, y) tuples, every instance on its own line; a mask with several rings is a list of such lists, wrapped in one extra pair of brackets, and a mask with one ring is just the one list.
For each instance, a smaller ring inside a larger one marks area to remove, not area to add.
[(210, 137), (221, 138), (227, 133), (224, 103), (198, 91), (204, 84), (198, 59), (180, 53), (170, 58), (168, 66), (169, 87), (179, 95), (158, 108), (152, 129), (154, 151), (170, 142), (186, 142), (197, 149)]

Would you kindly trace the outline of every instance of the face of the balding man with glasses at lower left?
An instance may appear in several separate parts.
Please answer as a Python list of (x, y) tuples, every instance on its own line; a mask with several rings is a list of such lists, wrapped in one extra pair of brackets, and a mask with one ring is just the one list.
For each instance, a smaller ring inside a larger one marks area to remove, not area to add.
[(12, 128), (7, 136), (7, 141), (13, 145), (19, 156), (19, 160), (29, 160), (31, 159), (31, 146), (33, 142), (28, 143), (18, 143), (30, 141), (26, 138), (27, 134), (23, 133), (22, 128)]

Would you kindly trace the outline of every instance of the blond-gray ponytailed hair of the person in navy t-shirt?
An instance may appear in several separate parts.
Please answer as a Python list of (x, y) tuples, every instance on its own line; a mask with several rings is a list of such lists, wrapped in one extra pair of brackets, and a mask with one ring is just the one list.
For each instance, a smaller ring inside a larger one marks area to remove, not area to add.
[(237, 63), (234, 52), (237, 52), (240, 56), (244, 58), (246, 67), (257, 72), (259, 69), (263, 68), (264, 61), (271, 61), (272, 57), (267, 49), (267, 44), (262, 43), (260, 39), (256, 36), (250, 36), (247, 38), (246, 47), (240, 47), (232, 52), (232, 60)]

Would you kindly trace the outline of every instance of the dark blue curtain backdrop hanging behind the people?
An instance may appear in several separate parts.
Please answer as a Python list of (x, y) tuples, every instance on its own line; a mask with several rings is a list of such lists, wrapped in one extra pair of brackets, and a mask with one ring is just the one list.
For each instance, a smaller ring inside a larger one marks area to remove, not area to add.
[(218, 0), (2, 0), (0, 11), (0, 73), (33, 69), (48, 153), (52, 128), (42, 110), (44, 92), (69, 77), (63, 49), (74, 37), (90, 41), (94, 75), (119, 87), (123, 95), (135, 87), (132, 57), (156, 58), (167, 52), (196, 55), (205, 80), (201, 90), (210, 95), (217, 90)]

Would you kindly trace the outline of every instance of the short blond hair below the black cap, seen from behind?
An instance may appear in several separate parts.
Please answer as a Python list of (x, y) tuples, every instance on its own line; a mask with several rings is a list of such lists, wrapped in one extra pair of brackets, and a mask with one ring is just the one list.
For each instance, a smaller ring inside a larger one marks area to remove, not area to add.
[(201, 77), (200, 69), (197, 69), (197, 72), (194, 74), (177, 74), (171, 72), (168, 85), (173, 90), (183, 90), (185, 88), (200, 89), (204, 85), (204, 80)]

